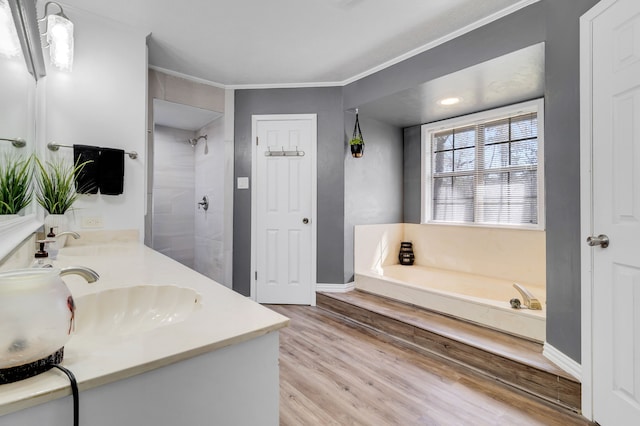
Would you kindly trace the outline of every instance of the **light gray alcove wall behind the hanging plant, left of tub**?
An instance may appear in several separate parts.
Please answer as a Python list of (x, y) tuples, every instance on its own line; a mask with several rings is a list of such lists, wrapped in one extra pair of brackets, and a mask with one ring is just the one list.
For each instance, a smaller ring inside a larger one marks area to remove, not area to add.
[[(345, 114), (346, 140), (355, 114)], [(402, 222), (402, 129), (360, 115), (362, 158), (344, 159), (344, 282), (353, 281), (353, 227)]]

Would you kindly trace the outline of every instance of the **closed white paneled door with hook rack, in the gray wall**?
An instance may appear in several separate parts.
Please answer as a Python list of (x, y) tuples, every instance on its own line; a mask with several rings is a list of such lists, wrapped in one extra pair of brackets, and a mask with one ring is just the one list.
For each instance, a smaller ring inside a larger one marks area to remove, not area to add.
[(260, 303), (315, 304), (316, 116), (253, 117), (252, 266)]

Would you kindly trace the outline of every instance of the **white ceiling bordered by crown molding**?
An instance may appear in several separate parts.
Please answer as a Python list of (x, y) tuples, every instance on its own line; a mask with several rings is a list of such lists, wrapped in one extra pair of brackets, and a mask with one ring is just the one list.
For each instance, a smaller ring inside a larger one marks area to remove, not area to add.
[(151, 34), (150, 65), (228, 86), (345, 84), (536, 0), (63, 0)]

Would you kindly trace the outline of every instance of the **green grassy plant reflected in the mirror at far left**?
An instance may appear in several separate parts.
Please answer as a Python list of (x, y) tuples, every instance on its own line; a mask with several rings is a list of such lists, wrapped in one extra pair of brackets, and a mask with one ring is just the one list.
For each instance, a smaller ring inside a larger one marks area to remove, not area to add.
[(0, 214), (17, 214), (31, 202), (33, 156), (5, 154), (0, 162)]

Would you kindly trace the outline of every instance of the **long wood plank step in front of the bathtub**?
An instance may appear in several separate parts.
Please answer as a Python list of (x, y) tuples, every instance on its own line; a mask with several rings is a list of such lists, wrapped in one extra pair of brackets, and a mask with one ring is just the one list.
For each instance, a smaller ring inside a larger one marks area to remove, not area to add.
[(319, 307), (580, 412), (580, 383), (542, 355), (540, 343), (354, 290), (317, 293)]

